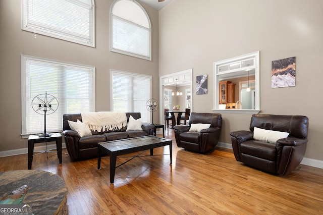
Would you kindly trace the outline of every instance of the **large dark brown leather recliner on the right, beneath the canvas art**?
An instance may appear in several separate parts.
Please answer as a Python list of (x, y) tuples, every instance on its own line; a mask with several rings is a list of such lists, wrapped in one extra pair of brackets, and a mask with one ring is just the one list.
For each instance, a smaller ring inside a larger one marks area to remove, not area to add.
[[(268, 143), (253, 139), (254, 128), (288, 132), (287, 138)], [(286, 175), (302, 161), (307, 145), (305, 116), (261, 115), (251, 117), (250, 131), (231, 132), (236, 160), (268, 173)]]

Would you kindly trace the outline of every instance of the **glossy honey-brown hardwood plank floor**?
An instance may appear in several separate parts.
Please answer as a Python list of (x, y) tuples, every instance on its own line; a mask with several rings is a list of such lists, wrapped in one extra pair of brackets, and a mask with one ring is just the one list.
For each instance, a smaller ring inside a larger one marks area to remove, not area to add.
[[(37, 155), (32, 169), (61, 176), (69, 214), (323, 214), (323, 169), (301, 166), (285, 177), (236, 162), (232, 150), (208, 154), (178, 148), (172, 129), (169, 155), (138, 157), (116, 170), (110, 184), (109, 158), (72, 162), (63, 149)], [(154, 154), (169, 153), (161, 147)], [(149, 154), (149, 150), (144, 154)], [(127, 158), (118, 158), (117, 165)], [(27, 154), (0, 158), (0, 172), (28, 169)]]

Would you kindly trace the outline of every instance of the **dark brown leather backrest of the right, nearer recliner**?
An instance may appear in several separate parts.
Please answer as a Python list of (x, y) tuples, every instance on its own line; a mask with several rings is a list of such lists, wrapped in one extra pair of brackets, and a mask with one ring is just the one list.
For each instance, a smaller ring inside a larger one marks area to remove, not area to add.
[(250, 131), (254, 127), (288, 132), (296, 138), (307, 138), (308, 118), (305, 116), (254, 114), (251, 117)]

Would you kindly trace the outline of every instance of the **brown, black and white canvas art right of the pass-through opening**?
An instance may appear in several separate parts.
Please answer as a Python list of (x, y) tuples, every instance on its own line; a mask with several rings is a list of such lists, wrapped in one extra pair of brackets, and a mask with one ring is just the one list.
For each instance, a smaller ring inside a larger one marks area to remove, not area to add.
[(296, 57), (272, 61), (272, 88), (295, 86), (295, 61)]

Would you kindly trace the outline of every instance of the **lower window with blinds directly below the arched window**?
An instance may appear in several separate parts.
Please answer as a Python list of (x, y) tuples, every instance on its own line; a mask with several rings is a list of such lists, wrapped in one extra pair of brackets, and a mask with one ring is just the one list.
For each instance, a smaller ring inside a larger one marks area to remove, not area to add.
[(151, 94), (151, 76), (112, 70), (111, 82), (111, 111), (140, 112), (142, 122), (149, 123), (146, 102)]

